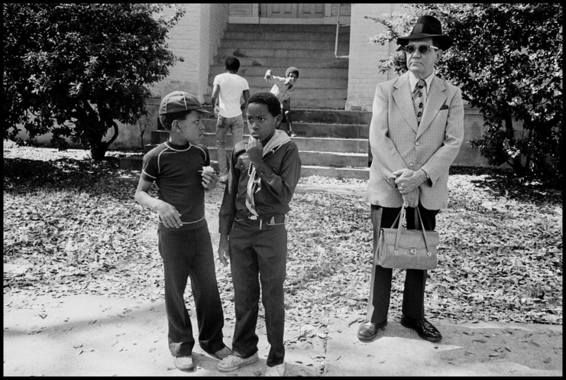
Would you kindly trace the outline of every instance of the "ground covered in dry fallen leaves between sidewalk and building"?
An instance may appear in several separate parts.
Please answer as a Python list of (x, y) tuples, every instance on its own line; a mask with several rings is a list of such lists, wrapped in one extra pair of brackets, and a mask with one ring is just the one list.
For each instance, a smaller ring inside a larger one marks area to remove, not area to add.
[[(4, 149), (3, 170), (4, 268), (12, 268), (4, 272), (4, 296), (163, 300), (156, 215), (134, 202), (138, 171), (119, 169), (113, 156), (92, 161), (84, 150), (14, 146)], [(312, 176), (300, 183), (317, 181), (364, 182)], [(296, 192), (290, 205), (285, 320), (294, 342), (318, 344), (329, 316), (365, 315), (373, 261), (369, 207), (363, 194), (316, 192)], [(518, 184), (503, 170), (453, 167), (437, 230), (427, 316), (562, 324), (561, 191)], [(217, 281), (231, 319), (229, 266), (217, 263)], [(394, 270), (392, 318), (400, 317), (403, 281), (403, 271)], [(307, 324), (312, 333), (301, 336)]]

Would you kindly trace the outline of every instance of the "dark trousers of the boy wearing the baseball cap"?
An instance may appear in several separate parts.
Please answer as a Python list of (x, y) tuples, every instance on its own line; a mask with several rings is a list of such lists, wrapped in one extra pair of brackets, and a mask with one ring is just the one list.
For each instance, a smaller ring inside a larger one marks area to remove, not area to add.
[(224, 348), (224, 313), (214, 270), (214, 252), (208, 226), (194, 230), (158, 231), (159, 253), (165, 270), (165, 310), (169, 351), (173, 356), (191, 355), (195, 340), (183, 294), (187, 279), (196, 306), (198, 342), (207, 353)]

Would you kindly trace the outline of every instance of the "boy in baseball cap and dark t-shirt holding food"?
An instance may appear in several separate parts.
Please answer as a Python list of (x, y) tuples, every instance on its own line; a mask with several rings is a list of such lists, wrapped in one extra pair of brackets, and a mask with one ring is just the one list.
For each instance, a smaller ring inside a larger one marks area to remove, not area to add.
[[(158, 250), (165, 272), (165, 309), (169, 351), (180, 370), (193, 368), (195, 340), (183, 294), (187, 278), (198, 321), (201, 348), (217, 359), (232, 353), (222, 341), (224, 313), (216, 282), (214, 253), (207, 220), (204, 191), (214, 189), (217, 176), (208, 170), (210, 156), (200, 144), (202, 115), (209, 113), (196, 97), (174, 91), (161, 100), (159, 119), (169, 139), (143, 156), (135, 200), (158, 213)], [(148, 191), (153, 182), (158, 198)]]

